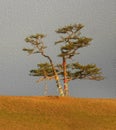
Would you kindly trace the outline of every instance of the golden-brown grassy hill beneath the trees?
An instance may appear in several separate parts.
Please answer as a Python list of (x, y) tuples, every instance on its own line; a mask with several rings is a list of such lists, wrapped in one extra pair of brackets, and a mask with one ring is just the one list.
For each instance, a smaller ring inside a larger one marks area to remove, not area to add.
[(0, 130), (116, 130), (116, 99), (0, 96)]

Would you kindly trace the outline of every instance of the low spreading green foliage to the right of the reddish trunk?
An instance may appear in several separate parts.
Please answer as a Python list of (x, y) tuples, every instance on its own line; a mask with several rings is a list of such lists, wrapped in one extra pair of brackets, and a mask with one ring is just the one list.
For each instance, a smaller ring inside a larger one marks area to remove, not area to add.
[(68, 76), (74, 79), (91, 79), (91, 80), (102, 80), (101, 69), (97, 68), (96, 64), (81, 65), (79, 63), (72, 63), (69, 65), (72, 69)]

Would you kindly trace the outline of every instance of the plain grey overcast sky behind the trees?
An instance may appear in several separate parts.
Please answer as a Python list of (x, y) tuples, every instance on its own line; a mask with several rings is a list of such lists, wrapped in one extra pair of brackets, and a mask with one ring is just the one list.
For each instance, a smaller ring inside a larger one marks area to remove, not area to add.
[[(75, 23), (84, 24), (82, 34), (93, 41), (73, 61), (97, 64), (105, 79), (70, 82), (70, 95), (116, 97), (116, 0), (0, 0), (0, 95), (43, 95), (44, 83), (37, 84), (37, 77), (28, 74), (46, 60), (23, 52), (24, 39), (47, 34), (46, 53), (58, 63), (54, 30)], [(58, 94), (54, 81), (48, 81), (47, 94)]]

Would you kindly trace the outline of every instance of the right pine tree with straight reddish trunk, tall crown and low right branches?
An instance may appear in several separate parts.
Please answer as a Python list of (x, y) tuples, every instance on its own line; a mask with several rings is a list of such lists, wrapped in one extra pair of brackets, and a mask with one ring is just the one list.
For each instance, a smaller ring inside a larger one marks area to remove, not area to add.
[[(65, 27), (56, 30), (56, 33), (62, 34), (59, 41), (55, 44), (63, 44), (60, 50), (61, 53), (58, 55), (62, 57), (62, 75), (64, 77), (64, 94), (69, 95), (68, 82), (74, 79), (91, 79), (91, 80), (102, 80), (100, 69), (96, 65), (80, 65), (79, 63), (72, 63), (67, 65), (66, 61), (73, 58), (77, 53), (78, 49), (90, 45), (91, 38), (81, 35), (81, 29), (84, 26), (82, 24), (67, 25)], [(70, 71), (67, 71), (70, 68)]]

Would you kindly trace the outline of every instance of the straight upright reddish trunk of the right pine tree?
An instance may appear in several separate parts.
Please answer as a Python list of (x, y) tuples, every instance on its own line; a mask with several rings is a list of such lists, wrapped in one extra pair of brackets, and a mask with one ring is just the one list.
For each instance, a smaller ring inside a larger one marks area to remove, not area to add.
[(68, 90), (68, 80), (67, 80), (66, 58), (65, 57), (63, 57), (63, 72), (64, 72), (64, 95), (68, 96), (69, 90)]

